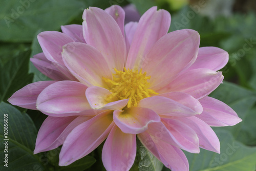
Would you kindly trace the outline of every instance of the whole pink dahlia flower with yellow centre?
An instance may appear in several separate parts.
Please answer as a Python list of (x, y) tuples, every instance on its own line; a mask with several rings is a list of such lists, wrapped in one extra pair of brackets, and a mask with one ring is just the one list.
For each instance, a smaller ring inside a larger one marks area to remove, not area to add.
[(167, 33), (170, 14), (152, 7), (124, 26), (119, 6), (84, 10), (82, 26), (38, 35), (44, 53), (31, 61), (55, 81), (29, 84), (9, 98), (48, 115), (34, 153), (62, 144), (59, 165), (88, 155), (104, 140), (106, 170), (129, 170), (141, 143), (172, 170), (188, 170), (181, 149), (220, 153), (210, 126), (241, 121), (208, 97), (223, 80), (228, 54), (199, 48), (194, 30)]

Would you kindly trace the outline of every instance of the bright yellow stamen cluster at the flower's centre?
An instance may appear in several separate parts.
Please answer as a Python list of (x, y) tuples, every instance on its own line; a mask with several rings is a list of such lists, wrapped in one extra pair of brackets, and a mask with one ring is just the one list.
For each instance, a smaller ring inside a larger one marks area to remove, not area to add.
[(129, 98), (127, 108), (131, 108), (131, 106), (137, 106), (139, 100), (151, 97), (152, 94), (158, 94), (154, 90), (148, 89), (150, 83), (147, 80), (151, 76), (146, 76), (146, 72), (142, 74), (141, 71), (126, 70), (126, 68), (124, 71), (115, 69), (116, 73), (112, 74), (112, 80), (103, 77), (103, 80), (109, 85), (110, 92), (112, 92), (106, 100), (111, 101), (115, 97), (118, 100)]

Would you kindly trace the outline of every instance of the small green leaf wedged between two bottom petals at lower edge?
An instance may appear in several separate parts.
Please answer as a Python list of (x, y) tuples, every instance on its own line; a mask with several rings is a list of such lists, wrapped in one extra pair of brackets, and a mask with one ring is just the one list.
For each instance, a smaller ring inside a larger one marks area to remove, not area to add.
[[(136, 167), (139, 169), (137, 169)], [(135, 164), (133, 165), (131, 170), (159, 171), (162, 169), (162, 167), (163, 164), (137, 139), (137, 156)]]

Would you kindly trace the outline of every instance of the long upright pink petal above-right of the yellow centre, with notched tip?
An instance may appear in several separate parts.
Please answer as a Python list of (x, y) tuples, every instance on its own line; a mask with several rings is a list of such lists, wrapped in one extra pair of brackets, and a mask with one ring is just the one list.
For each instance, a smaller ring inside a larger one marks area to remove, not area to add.
[[(154, 24), (152, 24), (154, 23)], [(155, 42), (165, 35), (170, 26), (170, 14), (157, 7), (148, 9), (140, 18), (128, 53), (126, 68), (140, 70), (140, 63)]]

